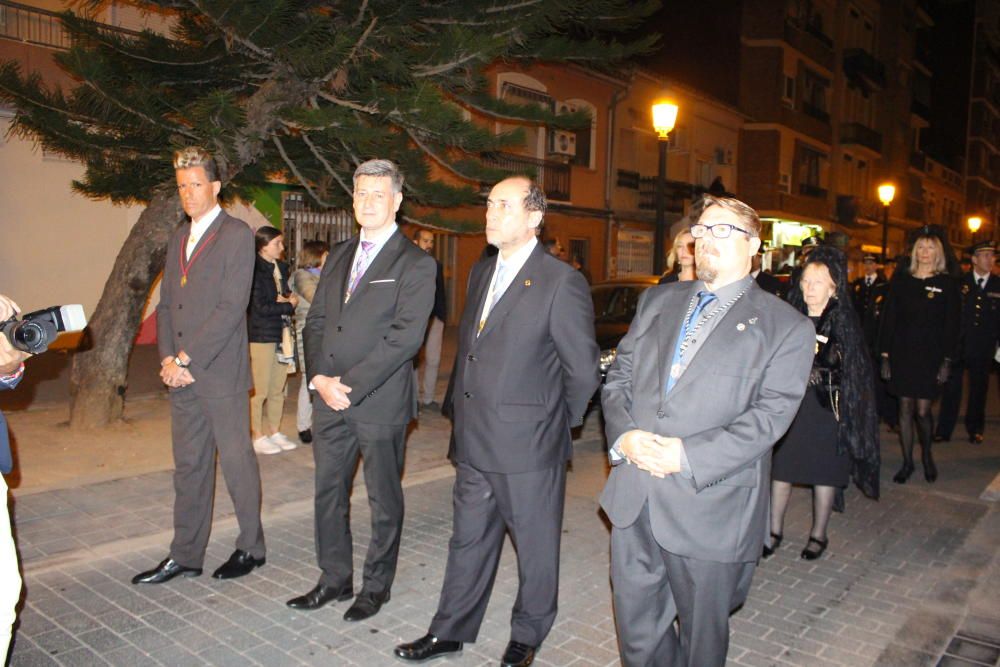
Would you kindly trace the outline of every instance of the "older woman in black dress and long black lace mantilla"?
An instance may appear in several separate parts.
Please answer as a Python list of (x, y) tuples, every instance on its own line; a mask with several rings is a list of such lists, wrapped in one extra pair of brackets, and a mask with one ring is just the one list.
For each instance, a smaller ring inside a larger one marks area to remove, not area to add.
[(799, 411), (774, 450), (765, 558), (781, 544), (793, 484), (813, 487), (813, 523), (801, 554), (807, 560), (826, 550), (838, 490), (852, 477), (865, 494), (878, 498), (875, 376), (848, 288), (844, 253), (819, 246), (788, 294), (789, 303), (816, 327), (816, 355)]

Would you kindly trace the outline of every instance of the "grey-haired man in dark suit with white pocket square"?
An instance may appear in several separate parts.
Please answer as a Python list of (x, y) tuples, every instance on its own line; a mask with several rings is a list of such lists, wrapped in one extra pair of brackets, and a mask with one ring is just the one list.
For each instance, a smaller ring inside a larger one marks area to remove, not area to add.
[(354, 594), (350, 497), (364, 460), (371, 543), (361, 592), (344, 614), (360, 621), (389, 600), (403, 526), (403, 446), (416, 416), (413, 358), (434, 305), (434, 258), (396, 225), (403, 175), (389, 160), (354, 172), (358, 236), (333, 248), (303, 330), (313, 400), (319, 583), (288, 601), (318, 609)]

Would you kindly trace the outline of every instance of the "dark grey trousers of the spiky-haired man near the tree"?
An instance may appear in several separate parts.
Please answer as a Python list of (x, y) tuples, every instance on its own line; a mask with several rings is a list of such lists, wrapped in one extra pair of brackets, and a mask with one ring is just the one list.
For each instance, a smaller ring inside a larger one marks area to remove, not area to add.
[(240, 534), (236, 548), (264, 557), (260, 523), (260, 470), (250, 442), (246, 393), (223, 398), (196, 396), (193, 389), (170, 394), (174, 447), (174, 539), (170, 557), (201, 567), (212, 530), (215, 454), (233, 501)]

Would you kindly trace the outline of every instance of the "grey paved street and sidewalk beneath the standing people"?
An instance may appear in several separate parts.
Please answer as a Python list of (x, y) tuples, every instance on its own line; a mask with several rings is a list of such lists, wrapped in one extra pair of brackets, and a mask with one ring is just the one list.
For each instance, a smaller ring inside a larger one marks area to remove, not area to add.
[[(294, 421), (290, 395), (286, 423)], [(221, 475), (205, 574), (160, 586), (129, 580), (167, 554), (169, 471), (34, 494), (15, 491), (26, 593), (11, 664), (401, 664), (392, 657), (393, 646), (426, 632), (441, 587), (454, 478), (445, 459), (448, 428), (441, 416), (422, 414), (410, 434), (392, 599), (361, 623), (342, 620), (348, 603), (315, 612), (285, 606), (318, 578), (307, 446), (260, 457), (267, 565), (232, 581), (209, 576), (236, 536)], [(538, 665), (619, 664), (609, 532), (597, 504), (607, 475), (600, 428), (594, 411), (575, 443), (560, 609)], [(785, 544), (760, 564), (747, 604), (733, 616), (729, 664), (1000, 664), (998, 420), (991, 419), (987, 430), (982, 446), (956, 439), (937, 447), (937, 484), (924, 482), (918, 469), (903, 486), (890, 481), (898, 446), (884, 432), (882, 499), (873, 502), (849, 489), (847, 510), (834, 516), (830, 548), (818, 561), (798, 557), (808, 535), (810, 497), (797, 489)], [(356, 584), (369, 537), (361, 481), (359, 475), (352, 511)], [(443, 664), (498, 663), (509, 639), (516, 584), (508, 542), (479, 640)]]

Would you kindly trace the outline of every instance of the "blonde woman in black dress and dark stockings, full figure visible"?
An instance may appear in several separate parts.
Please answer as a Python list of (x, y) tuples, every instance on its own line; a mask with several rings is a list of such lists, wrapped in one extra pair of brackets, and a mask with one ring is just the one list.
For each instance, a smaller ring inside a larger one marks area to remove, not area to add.
[(931, 455), (931, 403), (947, 382), (958, 346), (960, 296), (946, 272), (941, 240), (924, 228), (913, 244), (908, 267), (889, 285), (879, 336), (881, 375), (899, 399), (903, 465), (892, 478), (905, 484), (913, 474), (914, 429), (920, 440), (924, 479), (937, 479)]

